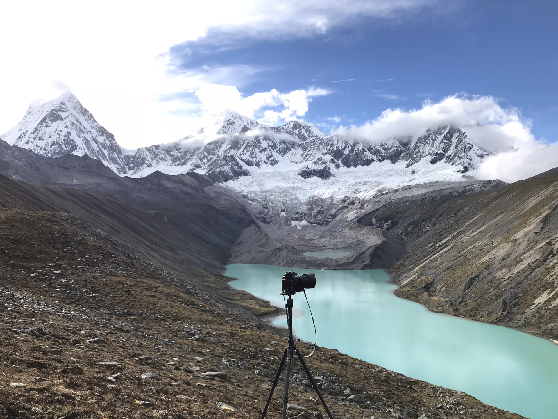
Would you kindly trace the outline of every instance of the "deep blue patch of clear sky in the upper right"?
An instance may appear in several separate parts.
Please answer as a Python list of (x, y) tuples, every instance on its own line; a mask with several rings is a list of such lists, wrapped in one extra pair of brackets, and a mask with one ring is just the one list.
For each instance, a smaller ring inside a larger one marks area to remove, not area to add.
[(557, 17), (556, 1), (464, 1), (389, 20), (355, 16), (310, 36), (258, 40), (213, 28), (170, 51), (177, 72), (239, 66), (218, 81), (236, 85), (244, 97), (270, 89), (328, 89), (304, 115), (325, 131), (360, 125), (386, 108), (420, 108), (425, 99), (465, 93), (518, 108), (537, 139), (554, 142)]

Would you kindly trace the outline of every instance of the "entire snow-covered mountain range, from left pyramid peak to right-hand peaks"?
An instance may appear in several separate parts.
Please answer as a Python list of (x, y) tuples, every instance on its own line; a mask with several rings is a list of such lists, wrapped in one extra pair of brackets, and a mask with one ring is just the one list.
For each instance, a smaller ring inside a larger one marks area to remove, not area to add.
[[(395, 166), (435, 168), (438, 172), (443, 166), (440, 173), (460, 176), (488, 155), (454, 126), (427, 130), (417, 138), (355, 141), (347, 136), (328, 136), (304, 122), (269, 127), (233, 111), (209, 118), (196, 134), (180, 141), (124, 153), (114, 136), (71, 93), (30, 107), (23, 120), (0, 138), (45, 156), (86, 154), (119, 175), (142, 177), (156, 170), (168, 174), (195, 171), (216, 182), (285, 170), (300, 180), (328, 180), (345, 173), (345, 169), (373, 169), (382, 162), (394, 165), (393, 173)], [(389, 169), (389, 165), (382, 164), (382, 168)], [(385, 175), (389, 170), (384, 169)], [(405, 173), (416, 173), (415, 169)]]

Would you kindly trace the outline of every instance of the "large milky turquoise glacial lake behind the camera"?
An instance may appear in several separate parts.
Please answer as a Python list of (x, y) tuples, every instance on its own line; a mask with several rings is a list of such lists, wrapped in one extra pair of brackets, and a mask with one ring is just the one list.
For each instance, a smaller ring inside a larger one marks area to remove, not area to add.
[[(285, 307), (281, 277), (303, 269), (229, 265), (229, 284)], [(466, 392), (531, 419), (557, 417), (558, 345), (516, 330), (431, 313), (393, 295), (383, 270), (318, 270), (307, 290), (318, 345), (369, 363)], [(294, 331), (313, 341), (304, 294), (294, 296)], [(286, 327), (286, 320), (273, 324)]]

